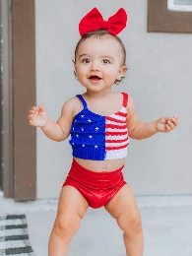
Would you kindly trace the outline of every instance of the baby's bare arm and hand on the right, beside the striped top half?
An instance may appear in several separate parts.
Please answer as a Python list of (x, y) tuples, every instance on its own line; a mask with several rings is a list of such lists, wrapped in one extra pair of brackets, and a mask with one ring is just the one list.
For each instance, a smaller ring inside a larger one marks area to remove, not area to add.
[(137, 114), (135, 103), (129, 96), (128, 105), (128, 130), (129, 136), (133, 139), (142, 140), (147, 139), (158, 132), (170, 132), (177, 126), (177, 117), (172, 118), (162, 116), (160, 119), (152, 122), (140, 122)]

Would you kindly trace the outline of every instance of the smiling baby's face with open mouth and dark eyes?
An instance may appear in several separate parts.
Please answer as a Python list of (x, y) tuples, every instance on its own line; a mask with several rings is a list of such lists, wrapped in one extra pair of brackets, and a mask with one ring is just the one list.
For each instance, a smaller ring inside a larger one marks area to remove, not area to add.
[(80, 44), (76, 54), (78, 81), (87, 90), (98, 92), (109, 89), (126, 71), (122, 60), (122, 48), (115, 39), (110, 36), (88, 38)]

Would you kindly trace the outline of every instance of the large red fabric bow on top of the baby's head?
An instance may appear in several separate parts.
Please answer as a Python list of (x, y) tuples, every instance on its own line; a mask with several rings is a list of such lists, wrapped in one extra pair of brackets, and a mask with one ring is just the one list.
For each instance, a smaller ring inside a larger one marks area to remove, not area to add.
[(123, 8), (119, 9), (116, 14), (104, 21), (96, 7), (88, 13), (79, 24), (79, 32), (83, 36), (87, 32), (96, 30), (106, 30), (112, 35), (116, 35), (126, 27), (127, 14)]

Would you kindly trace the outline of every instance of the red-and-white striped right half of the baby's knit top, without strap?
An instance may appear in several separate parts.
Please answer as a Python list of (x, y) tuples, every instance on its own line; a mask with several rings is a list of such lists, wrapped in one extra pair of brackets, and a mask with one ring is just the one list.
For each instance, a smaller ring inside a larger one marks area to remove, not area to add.
[(105, 120), (105, 160), (115, 160), (127, 156), (129, 144), (127, 129), (127, 110), (122, 109)]

